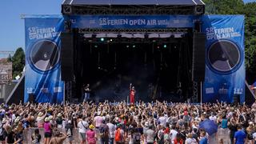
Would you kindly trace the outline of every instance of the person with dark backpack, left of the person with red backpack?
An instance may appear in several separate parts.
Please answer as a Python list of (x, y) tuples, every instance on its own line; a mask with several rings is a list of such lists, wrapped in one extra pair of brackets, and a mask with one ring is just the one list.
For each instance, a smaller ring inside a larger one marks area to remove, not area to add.
[(110, 133), (109, 133), (109, 126), (106, 125), (106, 121), (102, 120), (102, 124), (99, 126), (101, 144), (108, 144)]

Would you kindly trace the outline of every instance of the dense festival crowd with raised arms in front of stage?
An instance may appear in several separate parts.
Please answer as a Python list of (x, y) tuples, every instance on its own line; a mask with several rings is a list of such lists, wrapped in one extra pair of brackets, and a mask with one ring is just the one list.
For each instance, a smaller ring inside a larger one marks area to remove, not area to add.
[[(256, 143), (255, 110), (256, 103), (246, 106), (224, 102), (2, 104), (0, 141), (6, 144), (24, 143), (24, 130), (34, 128), (30, 135), (34, 144), (72, 143), (74, 130), (78, 130), (81, 144), (226, 143), (200, 127), (201, 122), (211, 120), (218, 125), (218, 130), (229, 134), (230, 143), (253, 144)], [(39, 133), (42, 129), (44, 135)]]

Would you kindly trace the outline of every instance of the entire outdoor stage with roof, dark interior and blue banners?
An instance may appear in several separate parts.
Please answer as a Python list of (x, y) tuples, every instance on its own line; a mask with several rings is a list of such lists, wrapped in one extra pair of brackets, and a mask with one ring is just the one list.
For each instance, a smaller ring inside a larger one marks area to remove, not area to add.
[[(244, 102), (244, 18), (202, 1), (70, 1), (28, 15), (25, 102)], [(31, 77), (34, 79), (32, 80)]]

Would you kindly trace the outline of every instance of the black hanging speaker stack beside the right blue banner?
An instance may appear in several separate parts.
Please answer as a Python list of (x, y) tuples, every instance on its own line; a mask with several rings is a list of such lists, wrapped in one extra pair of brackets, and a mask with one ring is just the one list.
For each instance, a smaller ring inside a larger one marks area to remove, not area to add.
[(206, 34), (194, 32), (193, 37), (193, 59), (192, 59), (192, 80), (203, 82), (206, 69)]

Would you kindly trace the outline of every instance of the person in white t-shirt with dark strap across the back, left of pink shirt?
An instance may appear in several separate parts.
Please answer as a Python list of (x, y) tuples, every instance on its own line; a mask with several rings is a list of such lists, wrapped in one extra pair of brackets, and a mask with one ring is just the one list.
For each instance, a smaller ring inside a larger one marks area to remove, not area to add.
[(88, 123), (86, 122), (86, 117), (82, 117), (82, 120), (78, 122), (78, 132), (81, 136), (81, 144), (86, 143), (86, 129), (88, 127)]

